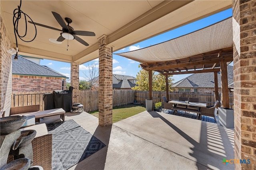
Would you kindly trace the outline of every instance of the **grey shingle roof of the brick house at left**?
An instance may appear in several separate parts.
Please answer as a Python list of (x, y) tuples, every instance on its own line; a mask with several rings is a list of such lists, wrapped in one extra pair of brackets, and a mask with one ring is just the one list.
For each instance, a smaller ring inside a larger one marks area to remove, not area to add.
[(48, 66), (36, 64), (22, 56), (18, 56), (18, 60), (14, 60), (14, 55), (12, 56), (12, 74), (68, 78)]

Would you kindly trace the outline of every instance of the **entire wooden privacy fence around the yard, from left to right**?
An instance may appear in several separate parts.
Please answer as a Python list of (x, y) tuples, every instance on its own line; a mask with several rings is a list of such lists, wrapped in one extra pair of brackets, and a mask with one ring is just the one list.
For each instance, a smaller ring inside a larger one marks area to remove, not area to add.
[[(51, 92), (13, 92), (12, 93), (12, 107), (14, 106), (28, 106), (40, 104), (40, 110), (44, 110), (43, 97), (46, 93)], [(96, 90), (80, 90), (79, 102), (84, 105), (84, 111), (98, 110), (98, 94)], [(153, 103), (164, 102), (162, 96), (166, 96), (166, 92), (153, 91)], [(178, 100), (179, 96), (199, 98), (199, 102), (213, 105), (215, 102), (214, 93), (201, 93), (201, 92), (169, 92), (169, 100)], [(219, 94), (220, 98), (220, 94)], [(145, 104), (148, 99), (148, 91), (135, 91), (135, 90), (113, 90), (113, 107), (131, 104), (134, 100), (137, 103)], [(233, 93), (229, 93), (230, 108), (233, 108)]]

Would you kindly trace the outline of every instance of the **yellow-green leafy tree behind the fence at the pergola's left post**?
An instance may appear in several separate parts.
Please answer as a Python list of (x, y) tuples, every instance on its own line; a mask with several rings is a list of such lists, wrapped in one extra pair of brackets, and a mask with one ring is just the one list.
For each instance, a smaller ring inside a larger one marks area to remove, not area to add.
[[(140, 68), (140, 65), (139, 65)], [(147, 70), (140, 70), (137, 74), (137, 81), (136, 81), (136, 86), (132, 87), (132, 90), (144, 90), (148, 91), (149, 90), (149, 82), (148, 82), (148, 71)], [(172, 90), (172, 81), (174, 79), (171, 76), (168, 76), (168, 89), (169, 91)], [(152, 71), (152, 90), (153, 91), (166, 91), (166, 82), (165, 82), (165, 76)]]

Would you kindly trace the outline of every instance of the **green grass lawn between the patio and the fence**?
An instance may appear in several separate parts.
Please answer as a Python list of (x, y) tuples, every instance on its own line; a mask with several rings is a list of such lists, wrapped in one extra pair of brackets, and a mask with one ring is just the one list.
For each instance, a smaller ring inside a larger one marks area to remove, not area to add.
[[(113, 115), (112, 115), (112, 122), (115, 123), (122, 119), (126, 119), (127, 117), (131, 117), (136, 115), (142, 111), (145, 111), (146, 108), (143, 105), (136, 105), (136, 104), (128, 104), (113, 107)], [(90, 111), (90, 114), (99, 117), (99, 111)]]

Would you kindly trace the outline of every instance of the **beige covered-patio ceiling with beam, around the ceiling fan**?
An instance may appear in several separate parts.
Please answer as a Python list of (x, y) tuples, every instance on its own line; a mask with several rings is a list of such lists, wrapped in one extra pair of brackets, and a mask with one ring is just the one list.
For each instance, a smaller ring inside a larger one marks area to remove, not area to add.
[[(0, 13), (10, 36), (12, 46), (16, 47), (13, 11), (20, 0), (1, 0)], [(206, 16), (230, 8), (232, 0), (22, 0), (21, 10), (36, 23), (61, 29), (52, 15), (57, 12), (62, 18), (73, 20), (74, 30), (93, 31), (95, 37), (79, 36), (89, 46), (76, 40), (54, 44), (50, 38), (57, 39), (60, 31), (37, 26), (36, 39), (26, 43), (18, 39), (20, 55), (40, 57), (56, 61), (71, 62), (71, 56), (79, 64), (98, 58), (98, 38), (108, 37), (108, 45), (117, 51), (152, 36), (176, 27), (199, 20)], [(23, 17), (24, 18), (24, 17)], [(22, 22), (23, 21), (23, 22)], [(24, 33), (24, 20), (20, 21), (19, 31)], [(34, 36), (33, 25), (28, 23), (26, 40)]]

